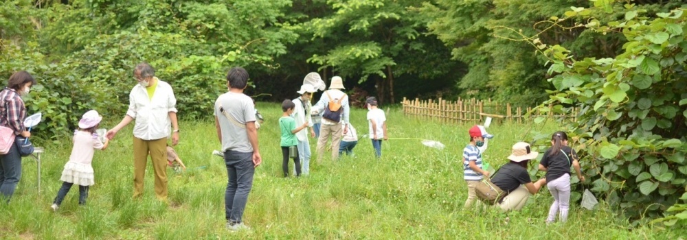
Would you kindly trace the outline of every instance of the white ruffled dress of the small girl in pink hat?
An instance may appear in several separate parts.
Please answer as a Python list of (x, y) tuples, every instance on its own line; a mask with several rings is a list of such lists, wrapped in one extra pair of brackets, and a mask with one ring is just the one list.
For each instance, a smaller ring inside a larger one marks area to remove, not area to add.
[(90, 132), (74, 132), (74, 148), (71, 149), (69, 162), (65, 164), (60, 180), (81, 186), (91, 186), (95, 183), (93, 176), (93, 153), (95, 149), (102, 149), (102, 142), (98, 134)]

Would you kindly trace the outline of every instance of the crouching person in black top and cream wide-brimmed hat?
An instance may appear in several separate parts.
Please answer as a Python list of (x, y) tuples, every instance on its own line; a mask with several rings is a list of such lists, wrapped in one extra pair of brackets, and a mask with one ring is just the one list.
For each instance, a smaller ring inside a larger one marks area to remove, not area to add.
[(499, 187), (506, 196), (496, 205), (503, 211), (520, 210), (530, 194), (535, 194), (546, 184), (542, 178), (532, 182), (527, 171), (530, 160), (537, 158), (539, 152), (532, 152), (528, 143), (515, 143), (513, 154), (508, 156), (510, 163), (499, 168), (491, 178), (493, 184)]

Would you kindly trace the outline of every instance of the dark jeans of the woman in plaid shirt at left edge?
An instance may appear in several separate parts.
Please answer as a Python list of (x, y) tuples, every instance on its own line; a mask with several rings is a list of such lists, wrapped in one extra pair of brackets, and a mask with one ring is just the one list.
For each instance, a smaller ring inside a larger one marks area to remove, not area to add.
[(16, 184), (21, 179), (21, 156), (19, 156), (19, 147), (12, 144), (10, 151), (5, 155), (0, 155), (0, 197), (3, 197), (7, 203), (10, 203), (10, 198), (14, 195)]

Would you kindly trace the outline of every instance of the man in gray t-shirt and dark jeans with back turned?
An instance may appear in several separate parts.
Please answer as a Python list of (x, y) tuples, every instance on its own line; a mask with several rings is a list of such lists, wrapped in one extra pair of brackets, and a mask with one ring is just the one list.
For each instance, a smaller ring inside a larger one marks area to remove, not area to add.
[(253, 187), (255, 168), (262, 163), (253, 100), (243, 94), (247, 83), (245, 69), (229, 70), (229, 92), (220, 95), (214, 106), (215, 128), (229, 177), (224, 196), (225, 217), (227, 229), (232, 231), (248, 229), (241, 219)]

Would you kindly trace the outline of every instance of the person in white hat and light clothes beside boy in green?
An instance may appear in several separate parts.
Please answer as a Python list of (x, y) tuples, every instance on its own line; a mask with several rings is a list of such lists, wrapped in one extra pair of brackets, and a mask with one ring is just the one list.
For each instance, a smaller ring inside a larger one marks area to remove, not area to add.
[[(303, 84), (300, 91), (296, 93), (300, 94), (300, 97), (293, 99), (293, 114), (291, 117), (295, 119), (296, 125), (300, 126), (303, 123), (308, 123), (308, 128), (310, 128), (311, 137), (315, 137), (315, 130), (313, 130), (313, 117), (311, 117), (310, 112), (312, 105), (310, 104), (310, 98), (313, 97), (315, 93), (315, 88), (311, 84)], [(301, 167), (303, 168), (303, 174), (308, 175), (310, 173), (310, 141), (308, 140), (308, 133), (306, 131), (300, 131), (296, 133), (296, 139), (298, 139), (298, 158), (301, 160)]]

